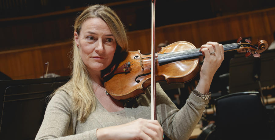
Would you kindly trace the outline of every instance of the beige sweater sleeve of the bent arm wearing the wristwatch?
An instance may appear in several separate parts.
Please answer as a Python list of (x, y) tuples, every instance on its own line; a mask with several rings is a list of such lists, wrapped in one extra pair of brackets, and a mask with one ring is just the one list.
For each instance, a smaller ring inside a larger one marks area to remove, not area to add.
[(171, 139), (188, 140), (209, 101), (192, 92), (186, 104), (179, 110), (159, 84), (156, 85), (156, 90), (157, 113), (164, 133)]

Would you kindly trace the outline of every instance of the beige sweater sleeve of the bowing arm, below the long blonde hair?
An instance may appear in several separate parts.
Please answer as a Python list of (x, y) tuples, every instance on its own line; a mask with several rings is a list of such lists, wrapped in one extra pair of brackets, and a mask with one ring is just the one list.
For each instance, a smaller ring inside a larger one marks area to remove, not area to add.
[(67, 92), (62, 90), (56, 92), (47, 106), (44, 120), (35, 139), (97, 140), (97, 129), (74, 135), (76, 120), (73, 120), (71, 105), (71, 97)]

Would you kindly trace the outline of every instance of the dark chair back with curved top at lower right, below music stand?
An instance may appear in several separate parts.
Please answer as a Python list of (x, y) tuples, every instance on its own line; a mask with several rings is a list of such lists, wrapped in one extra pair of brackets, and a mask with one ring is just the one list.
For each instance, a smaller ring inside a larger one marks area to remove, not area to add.
[(266, 112), (259, 92), (238, 92), (215, 99), (221, 140), (269, 139)]

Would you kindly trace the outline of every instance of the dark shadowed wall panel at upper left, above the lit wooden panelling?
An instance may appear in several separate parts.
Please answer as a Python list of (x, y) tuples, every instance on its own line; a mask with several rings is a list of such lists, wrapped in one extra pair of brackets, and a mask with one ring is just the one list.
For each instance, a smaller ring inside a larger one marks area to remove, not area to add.
[(1, 22), (1, 51), (70, 41), (76, 13)]

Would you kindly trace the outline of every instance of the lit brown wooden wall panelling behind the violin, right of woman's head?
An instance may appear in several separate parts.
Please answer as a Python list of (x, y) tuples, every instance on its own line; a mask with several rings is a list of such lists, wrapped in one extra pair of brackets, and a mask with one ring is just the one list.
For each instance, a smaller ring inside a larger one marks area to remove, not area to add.
[[(265, 9), (207, 20), (178, 23), (156, 28), (156, 46), (165, 40), (168, 43), (188, 41), (197, 48), (208, 41), (222, 42), (239, 37), (252, 37), (252, 43), (259, 40), (273, 41), (275, 31), (275, 9)], [(151, 29), (128, 32), (131, 51), (141, 49), (150, 52)], [(140, 43), (142, 41), (142, 43)], [(137, 43), (138, 42), (138, 43)]]

